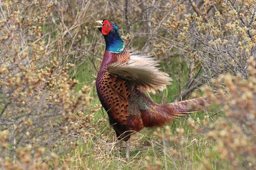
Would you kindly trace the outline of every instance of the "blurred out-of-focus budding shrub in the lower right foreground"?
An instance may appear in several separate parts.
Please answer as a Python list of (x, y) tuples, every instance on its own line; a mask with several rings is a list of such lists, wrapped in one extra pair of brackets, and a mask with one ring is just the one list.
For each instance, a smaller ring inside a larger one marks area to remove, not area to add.
[[(202, 150), (205, 155), (198, 164), (200, 169), (256, 168), (256, 69), (253, 58), (249, 60), (248, 69), (247, 80), (241, 75), (230, 74), (221, 75), (214, 80), (213, 83), (219, 91), (218, 98), (212, 97), (214, 93), (211, 88), (203, 88), (204, 93), (215, 107), (219, 106), (223, 115), (220, 114), (218, 118), (204, 116), (203, 119), (188, 119), (188, 124), (194, 129), (193, 134), (201, 135), (201, 140), (206, 144)], [(176, 131), (177, 137), (172, 135), (170, 127), (167, 126), (165, 132), (158, 129), (154, 134), (163, 140), (163, 150), (165, 154), (169, 152), (167, 155), (171, 157), (175, 167), (193, 169), (196, 165), (191, 162), (195, 161), (196, 153), (186, 153), (186, 148), (190, 147), (196, 138), (187, 139), (182, 127)]]

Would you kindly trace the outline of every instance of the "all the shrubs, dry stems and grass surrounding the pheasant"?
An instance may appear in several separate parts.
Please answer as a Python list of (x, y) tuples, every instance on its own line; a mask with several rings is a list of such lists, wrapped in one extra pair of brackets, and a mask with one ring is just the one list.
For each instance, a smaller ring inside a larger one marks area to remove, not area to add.
[[(254, 0), (0, 1), (0, 169), (256, 169), (255, 13)], [(174, 79), (155, 102), (214, 103), (134, 134), (129, 162), (96, 95), (106, 18)]]

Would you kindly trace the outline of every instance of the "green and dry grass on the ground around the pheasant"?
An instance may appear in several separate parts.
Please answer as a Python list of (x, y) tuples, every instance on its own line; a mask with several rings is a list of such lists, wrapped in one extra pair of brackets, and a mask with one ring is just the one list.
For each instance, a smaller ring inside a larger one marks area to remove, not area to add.
[[(181, 65), (183, 65), (183, 70), (180, 73), (180, 77), (181, 79), (187, 79), (188, 68), (182, 62)], [(163, 97), (159, 94), (150, 94), (150, 97), (157, 103), (166, 101), (172, 102), (179, 88), (177, 75), (179, 75), (180, 72), (180, 59), (173, 57), (170, 66), (162, 62), (161, 67), (163, 71), (173, 78), (172, 85), (169, 85), (161, 92)], [(83, 65), (79, 66), (74, 76), (80, 83), (85, 82), (77, 86), (77, 91), (79, 91), (83, 85), (90, 86), (90, 96), (93, 97), (93, 101), (90, 103), (90, 106), (88, 106), (90, 108), (95, 107), (95, 105), (100, 105), (95, 87), (95, 72), (94, 66), (88, 60)], [(163, 98), (166, 101), (163, 101)], [(108, 117), (105, 110), (102, 111), (103, 110), (99, 110), (94, 113), (95, 122), (98, 119)], [(197, 112), (189, 116), (196, 120), (198, 116), (204, 117), (204, 115), (206, 115), (206, 113)], [(189, 116), (186, 116), (186, 118)], [(134, 134), (131, 137), (131, 160), (128, 163), (126, 163), (125, 159), (125, 148), (119, 153), (118, 148), (113, 146), (116, 140), (116, 134), (109, 125), (109, 122), (107, 121), (101, 126), (96, 125), (95, 130), (99, 130), (100, 132), (98, 138), (101, 138), (106, 143), (96, 137), (77, 139), (79, 144), (75, 150), (70, 151), (70, 154), (75, 156), (71, 169), (141, 169), (155, 166), (158, 161), (162, 162), (161, 166), (163, 166), (164, 169), (176, 169), (178, 167), (197, 169), (206, 157), (206, 148), (212, 145), (212, 143), (210, 140), (205, 139), (203, 135), (194, 135), (192, 128), (189, 127), (186, 122), (186, 118), (178, 119), (167, 124), (171, 128), (174, 137), (178, 136), (176, 128), (182, 127), (184, 129), (183, 136), (187, 141), (184, 147), (178, 146), (175, 142), (169, 141), (166, 143), (163, 142), (163, 139), (157, 138), (154, 135), (157, 128), (144, 128), (140, 133)], [(165, 132), (165, 128), (161, 128), (161, 133), (164, 134)], [(122, 146), (125, 147), (125, 144), (123, 143)], [(211, 147), (213, 147), (213, 145)], [(184, 159), (182, 161), (182, 159), (172, 156), (172, 153), (169, 151), (170, 148), (176, 149), (180, 155), (187, 155), (188, 158), (192, 160)], [(212, 150), (210, 150), (210, 152), (213, 153)], [(215, 156), (217, 159), (217, 155)], [(214, 169), (217, 168), (216, 166), (217, 165), (212, 162)]]

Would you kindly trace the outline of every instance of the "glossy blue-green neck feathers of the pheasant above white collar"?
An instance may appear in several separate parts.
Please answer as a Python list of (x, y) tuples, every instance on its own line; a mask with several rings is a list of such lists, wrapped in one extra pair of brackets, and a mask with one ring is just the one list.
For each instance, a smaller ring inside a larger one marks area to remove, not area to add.
[(124, 51), (125, 44), (116, 30), (112, 34), (104, 35), (104, 38), (106, 42), (106, 50), (113, 53), (121, 53)]

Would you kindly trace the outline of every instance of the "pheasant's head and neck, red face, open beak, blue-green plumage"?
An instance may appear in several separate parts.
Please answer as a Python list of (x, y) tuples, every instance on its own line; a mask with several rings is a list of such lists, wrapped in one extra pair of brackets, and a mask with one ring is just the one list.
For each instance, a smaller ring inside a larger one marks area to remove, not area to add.
[(107, 19), (96, 21), (96, 23), (101, 24), (96, 26), (96, 28), (99, 28), (99, 31), (104, 36), (106, 50), (112, 53), (121, 53), (125, 50), (125, 44), (118, 34), (119, 28), (114, 23)]

